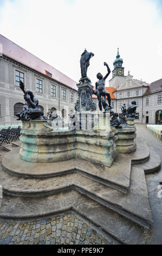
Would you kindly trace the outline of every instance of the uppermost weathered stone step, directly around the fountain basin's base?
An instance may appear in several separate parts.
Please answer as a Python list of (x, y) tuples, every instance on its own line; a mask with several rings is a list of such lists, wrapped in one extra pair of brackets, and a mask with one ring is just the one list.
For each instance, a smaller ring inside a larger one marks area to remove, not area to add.
[[(20, 159), (19, 148), (4, 156), (2, 166), (8, 172), (24, 178), (49, 178), (68, 173), (79, 173), (101, 184), (127, 193), (130, 186), (131, 161), (146, 161), (150, 155), (147, 145), (139, 140), (137, 151), (118, 154), (112, 166), (102, 167), (86, 160), (68, 160), (55, 163), (31, 163)], [(10, 161), (8, 161), (10, 159)]]

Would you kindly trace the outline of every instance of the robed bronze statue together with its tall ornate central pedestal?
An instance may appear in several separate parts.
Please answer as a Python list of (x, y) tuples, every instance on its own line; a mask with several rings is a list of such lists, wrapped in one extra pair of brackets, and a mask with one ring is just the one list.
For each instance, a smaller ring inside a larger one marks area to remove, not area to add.
[(75, 103), (75, 110), (81, 111), (95, 111), (96, 104), (92, 99), (93, 86), (90, 79), (87, 77), (87, 69), (89, 66), (89, 60), (94, 56), (94, 53), (85, 51), (81, 55), (80, 67), (81, 67), (81, 78), (78, 87), (78, 100)]

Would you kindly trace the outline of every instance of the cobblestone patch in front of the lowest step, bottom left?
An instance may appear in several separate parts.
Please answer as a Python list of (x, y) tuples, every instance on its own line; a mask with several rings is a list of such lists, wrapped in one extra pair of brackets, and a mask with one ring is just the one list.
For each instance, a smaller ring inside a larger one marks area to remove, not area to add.
[(76, 214), (59, 214), (34, 221), (0, 221), (0, 245), (114, 244)]

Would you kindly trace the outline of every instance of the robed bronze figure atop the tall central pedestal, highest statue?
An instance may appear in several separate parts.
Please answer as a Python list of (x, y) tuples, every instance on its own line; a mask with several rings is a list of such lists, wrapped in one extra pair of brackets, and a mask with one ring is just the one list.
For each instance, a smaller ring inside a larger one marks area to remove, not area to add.
[(80, 67), (81, 67), (81, 76), (87, 77), (87, 69), (89, 66), (89, 60), (94, 56), (94, 53), (92, 52), (87, 52), (85, 51), (81, 54), (81, 59), (80, 59)]

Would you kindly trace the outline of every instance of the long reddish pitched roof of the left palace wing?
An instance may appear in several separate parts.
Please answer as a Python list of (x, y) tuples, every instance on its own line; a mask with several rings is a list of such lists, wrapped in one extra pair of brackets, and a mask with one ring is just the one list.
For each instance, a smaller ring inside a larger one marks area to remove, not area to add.
[(31, 69), (34, 69), (43, 75), (49, 76), (54, 80), (65, 84), (66, 86), (77, 90), (76, 82), (68, 76), (62, 74), (59, 70), (53, 68), (43, 60), (37, 58), (30, 52), (24, 50), (22, 47), (16, 45), (14, 42), (5, 38), (0, 34), (0, 44), (2, 44), (3, 55), (16, 60)]

